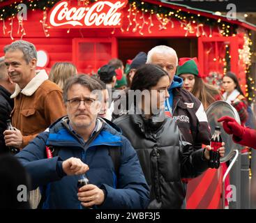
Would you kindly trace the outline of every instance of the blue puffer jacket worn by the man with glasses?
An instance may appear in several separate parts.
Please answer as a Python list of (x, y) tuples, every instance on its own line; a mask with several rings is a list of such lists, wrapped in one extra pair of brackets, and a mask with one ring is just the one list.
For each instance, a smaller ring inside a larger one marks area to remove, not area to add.
[[(81, 207), (77, 199), (78, 176), (65, 176), (62, 170), (62, 160), (70, 157), (80, 158), (88, 164), (86, 176), (90, 183), (104, 187), (107, 192), (104, 203), (96, 208), (146, 208), (149, 203), (149, 187), (130, 141), (104, 123), (98, 137), (84, 147), (65, 123), (66, 118), (62, 118), (52, 124), (49, 132), (40, 133), (17, 154), (31, 175), (33, 189), (47, 185), (43, 208)], [(45, 145), (59, 146), (58, 156), (47, 159)], [(110, 146), (121, 148), (117, 179), (109, 155)]]

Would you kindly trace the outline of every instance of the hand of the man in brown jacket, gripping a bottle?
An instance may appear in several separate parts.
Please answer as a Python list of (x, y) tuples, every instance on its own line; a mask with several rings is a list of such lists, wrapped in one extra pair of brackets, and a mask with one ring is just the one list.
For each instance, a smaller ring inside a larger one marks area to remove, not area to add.
[(22, 132), (15, 128), (15, 130), (5, 130), (3, 132), (6, 146), (14, 146), (15, 148), (22, 147)]

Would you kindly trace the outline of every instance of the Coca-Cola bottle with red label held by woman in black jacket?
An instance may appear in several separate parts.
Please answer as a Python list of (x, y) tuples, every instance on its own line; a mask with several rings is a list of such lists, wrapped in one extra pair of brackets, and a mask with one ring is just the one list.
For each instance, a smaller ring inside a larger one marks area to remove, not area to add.
[(220, 136), (220, 127), (216, 126), (213, 136), (211, 137), (211, 151), (209, 159), (209, 167), (218, 169), (220, 167), (220, 153), (217, 151), (221, 147), (223, 139)]

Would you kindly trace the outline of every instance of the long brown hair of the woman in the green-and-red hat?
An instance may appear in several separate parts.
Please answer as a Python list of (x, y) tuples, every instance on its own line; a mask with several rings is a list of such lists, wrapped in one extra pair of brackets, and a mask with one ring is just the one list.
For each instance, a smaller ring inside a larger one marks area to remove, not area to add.
[(197, 76), (195, 76), (195, 84), (191, 93), (202, 102), (204, 109), (216, 101), (217, 95), (218, 98), (222, 98), (220, 91), (218, 91), (215, 86), (206, 84), (202, 78)]

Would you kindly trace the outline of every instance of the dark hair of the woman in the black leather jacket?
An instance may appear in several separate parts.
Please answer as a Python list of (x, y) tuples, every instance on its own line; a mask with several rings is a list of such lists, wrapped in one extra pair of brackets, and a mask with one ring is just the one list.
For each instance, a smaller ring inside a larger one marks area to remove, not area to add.
[(168, 76), (168, 73), (159, 66), (145, 64), (136, 70), (130, 90), (150, 90), (165, 75)]

